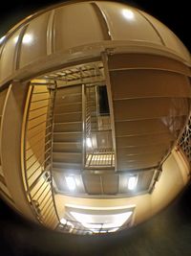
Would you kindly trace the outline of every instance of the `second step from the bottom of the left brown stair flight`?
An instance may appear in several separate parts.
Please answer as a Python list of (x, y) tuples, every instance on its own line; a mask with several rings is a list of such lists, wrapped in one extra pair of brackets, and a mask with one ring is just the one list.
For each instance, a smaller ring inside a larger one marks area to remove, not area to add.
[(53, 152), (53, 162), (81, 163), (82, 153), (80, 152)]

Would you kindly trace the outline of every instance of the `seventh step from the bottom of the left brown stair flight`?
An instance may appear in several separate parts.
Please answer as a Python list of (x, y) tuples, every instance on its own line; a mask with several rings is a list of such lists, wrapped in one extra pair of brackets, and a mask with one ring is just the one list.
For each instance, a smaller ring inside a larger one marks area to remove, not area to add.
[(70, 104), (61, 104), (54, 106), (54, 113), (71, 113), (82, 111), (82, 103), (70, 103)]

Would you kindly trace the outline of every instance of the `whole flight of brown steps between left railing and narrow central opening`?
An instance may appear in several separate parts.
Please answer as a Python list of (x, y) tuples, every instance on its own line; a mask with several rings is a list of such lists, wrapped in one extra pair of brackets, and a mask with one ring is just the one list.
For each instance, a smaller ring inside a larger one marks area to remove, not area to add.
[(82, 168), (82, 86), (58, 88), (54, 102), (53, 172)]

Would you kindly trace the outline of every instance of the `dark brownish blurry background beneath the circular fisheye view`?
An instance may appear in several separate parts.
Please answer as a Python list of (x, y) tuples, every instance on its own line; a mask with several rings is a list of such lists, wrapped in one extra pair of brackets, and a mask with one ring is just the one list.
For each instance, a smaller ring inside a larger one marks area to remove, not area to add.
[(190, 256), (191, 186), (150, 221), (108, 237), (74, 237), (39, 227), (0, 201), (1, 255)]

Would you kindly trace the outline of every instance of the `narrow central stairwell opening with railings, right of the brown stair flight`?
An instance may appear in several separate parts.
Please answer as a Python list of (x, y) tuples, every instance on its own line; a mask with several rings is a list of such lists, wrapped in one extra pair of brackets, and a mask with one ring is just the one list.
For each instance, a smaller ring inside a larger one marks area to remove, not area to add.
[(114, 168), (110, 116), (98, 113), (96, 84), (86, 86), (84, 94), (84, 168)]

